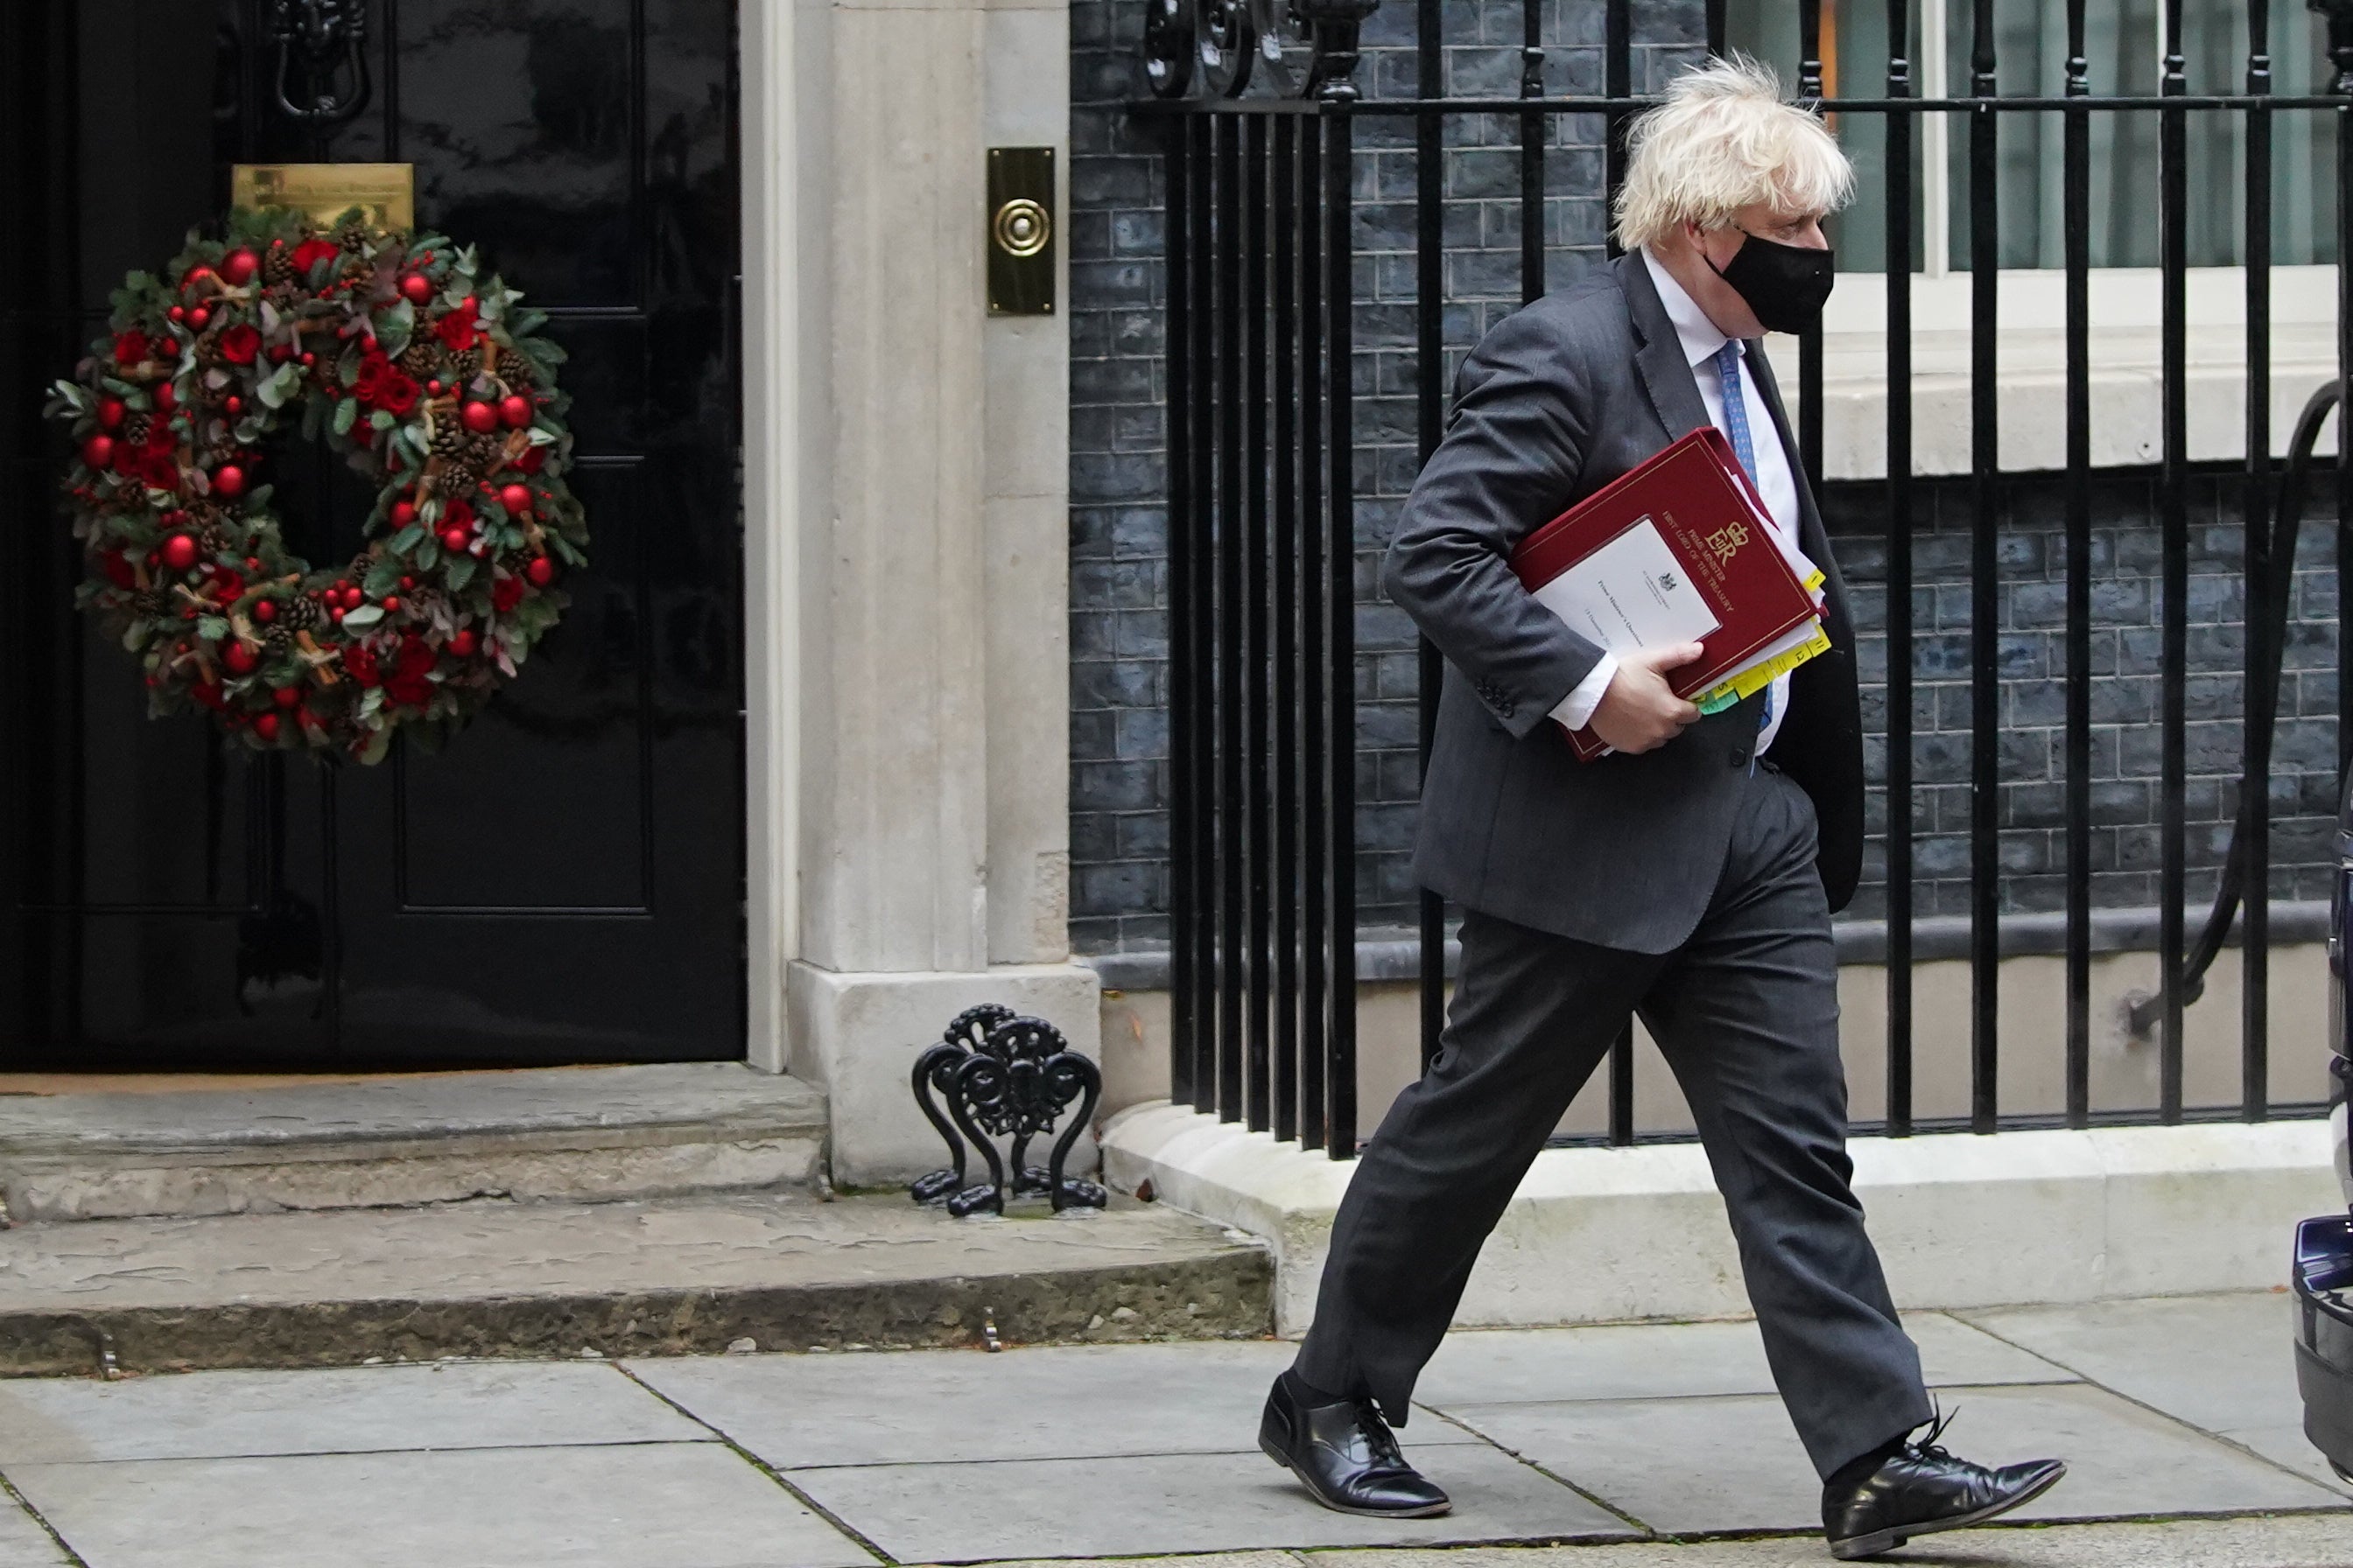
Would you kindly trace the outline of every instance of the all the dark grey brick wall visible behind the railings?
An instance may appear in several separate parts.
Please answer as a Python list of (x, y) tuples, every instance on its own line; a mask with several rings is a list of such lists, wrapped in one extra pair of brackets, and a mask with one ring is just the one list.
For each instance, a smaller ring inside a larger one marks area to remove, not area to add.
[[(1167, 517), (1162, 421), (1160, 165), (1148, 125), (1125, 103), (1141, 92), (1134, 40), (1141, 0), (1073, 0), (1071, 120), (1071, 933), (1080, 952), (1167, 940)], [(1449, 0), (1445, 82), (1454, 94), (1513, 94), (1520, 80), (1518, 0)], [(1701, 0), (1635, 0), (1635, 89), (1697, 59)], [(1412, 7), (1391, 0), (1367, 35), (1369, 96), (1409, 96)], [(1544, 28), (1551, 92), (1600, 89), (1600, 7), (1551, 5)], [(1407, 842), (1414, 820), (1414, 635), (1377, 588), (1379, 555), (1417, 451), (1414, 150), (1409, 125), (1360, 120), (1355, 160), (1355, 428), (1358, 428), (1358, 898), (1367, 926), (1412, 919)], [(1546, 284), (1562, 287), (1602, 256), (1600, 120), (1560, 118), (1546, 150)], [(1445, 150), (1447, 371), (1520, 303), (1518, 122), (1449, 122)], [(1915, 778), (1918, 910), (1960, 912), (1967, 898), (1967, 489), (1922, 484), (1918, 524)], [(1838, 552), (1866, 625), (1882, 614), (1878, 487), (1838, 487)], [(2219, 853), (2231, 813), (2238, 715), (2238, 534), (2226, 480), (2202, 480), (2191, 590), (2191, 797), (2195, 863)], [(2009, 484), (2005, 522), (2005, 900), (2057, 907), (2061, 686), (2054, 675), (2064, 552), (2057, 484)], [(2155, 515), (2146, 475), (2104, 475), (2099, 494), (2099, 623), (2094, 867), (2101, 903), (2155, 893)], [(2308, 548), (2318, 559), (2318, 548)], [(2287, 712), (2334, 715), (2334, 578), (2299, 585), (2297, 675)], [(1866, 672), (1885, 668), (1878, 639)], [(1873, 679), (1878, 679), (1873, 675)], [(1882, 689), (1866, 691), (1866, 703)], [(1878, 724), (1873, 722), (1873, 729)], [(1878, 743), (1875, 743), (1878, 745)], [(2285, 896), (2318, 889), (2313, 863), (2332, 813), (2329, 724), (2289, 726), (2275, 853)], [(1873, 752), (1880, 766), (1880, 752)], [(1873, 797), (1873, 809), (1882, 802)], [(1882, 860), (1873, 851), (1868, 875)], [(1875, 886), (1857, 903), (1875, 914)]]

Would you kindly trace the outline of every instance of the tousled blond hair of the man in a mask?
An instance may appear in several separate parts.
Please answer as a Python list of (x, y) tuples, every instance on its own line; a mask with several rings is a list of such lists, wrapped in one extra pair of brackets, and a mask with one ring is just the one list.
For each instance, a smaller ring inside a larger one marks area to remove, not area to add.
[(1626, 183), (1617, 195), (1619, 244), (1635, 249), (1682, 223), (1725, 228), (1753, 202), (1833, 212), (1854, 193), (1838, 139), (1781, 96), (1781, 78), (1746, 54), (1678, 75), (1666, 101), (1626, 132)]

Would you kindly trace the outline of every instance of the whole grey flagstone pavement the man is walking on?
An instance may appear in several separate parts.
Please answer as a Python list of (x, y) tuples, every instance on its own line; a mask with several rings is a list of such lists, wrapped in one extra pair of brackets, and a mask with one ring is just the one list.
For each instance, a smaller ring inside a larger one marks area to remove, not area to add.
[[(2353, 1568), (2353, 1512), (2275, 1429), (2294, 1413), (2278, 1314), (2273, 1295), (1915, 1314), (1958, 1453), (2073, 1469), (2014, 1521), (1894, 1561)], [(1188, 1340), (7, 1380), (0, 1474), (85, 1568), (856, 1568), (868, 1547), (1064, 1568), (1826, 1561), (1753, 1324), (1454, 1335), (1405, 1432), (1457, 1500), (1428, 1521), (1320, 1509), (1252, 1448), (1289, 1356)], [(2271, 1439), (2278, 1462), (2249, 1453)], [(2082, 1526), (2120, 1519), (2172, 1523)], [(0, 1568), (59, 1563), (0, 1497)]]

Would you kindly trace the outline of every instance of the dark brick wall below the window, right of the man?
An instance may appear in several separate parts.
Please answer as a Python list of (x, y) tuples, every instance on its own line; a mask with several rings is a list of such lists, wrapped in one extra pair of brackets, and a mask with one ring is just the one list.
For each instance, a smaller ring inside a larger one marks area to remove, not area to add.
[[(1887, 778), (1887, 534), (1882, 487), (1824, 494), (1831, 543), (1854, 595), (1866, 771)], [(1913, 907), (1965, 914), (1969, 898), (1969, 482), (1915, 484), (1913, 529)], [(2066, 527), (2057, 475), (2002, 487), (2000, 863), (2005, 910), (2066, 907)], [(2092, 903), (2158, 900), (2162, 679), (2155, 475), (2113, 470), (2092, 496)], [(2191, 896), (2209, 898), (2238, 811), (2245, 738), (2245, 581), (2238, 477), (2191, 482), (2186, 755)], [(2306, 524), (2289, 604), (2280, 729), (2271, 769), (2273, 896), (2327, 893), (2337, 820), (2334, 529)], [(1868, 797), (1871, 830), (1887, 797)], [(1885, 846), (1873, 837), (1849, 914), (1885, 914)]]

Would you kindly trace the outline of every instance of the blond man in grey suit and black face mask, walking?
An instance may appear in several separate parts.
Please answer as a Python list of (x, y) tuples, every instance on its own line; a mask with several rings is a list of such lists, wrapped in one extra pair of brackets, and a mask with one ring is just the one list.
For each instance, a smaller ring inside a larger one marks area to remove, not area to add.
[[(1461, 978), (1438, 1056), (1351, 1178), (1315, 1326), (1266, 1401), (1259, 1443), (1327, 1507), (1447, 1509), (1388, 1422), (1628, 1013), (1692, 1105), (1831, 1552), (1993, 1519), (2066, 1472), (1958, 1460), (1941, 1422), (1911, 1436), (1934, 1410), (1847, 1187), (1831, 910), (1864, 839), (1854, 630), (1758, 339), (1819, 315), (1821, 219), (1852, 183), (1769, 71), (1680, 78), (1631, 132), (1626, 254), (1487, 334), (1398, 524), (1388, 595), (1447, 658), (1414, 872), (1464, 905)], [(1666, 679), (1699, 644), (1612, 656), (1508, 567), (1532, 529), (1704, 423), (1828, 574), (1831, 635), (1708, 717)], [(1562, 726), (1614, 755), (1577, 762)]]

